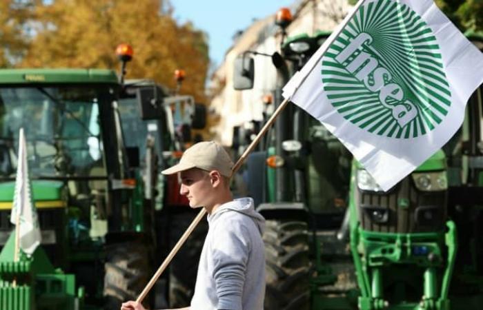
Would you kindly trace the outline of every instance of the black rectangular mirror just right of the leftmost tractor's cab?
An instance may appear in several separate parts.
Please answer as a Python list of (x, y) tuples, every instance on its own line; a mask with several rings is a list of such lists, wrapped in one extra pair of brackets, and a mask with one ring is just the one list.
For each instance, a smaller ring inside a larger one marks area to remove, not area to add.
[(159, 119), (163, 103), (163, 94), (155, 86), (139, 87), (136, 90), (136, 98), (141, 112), (141, 119)]

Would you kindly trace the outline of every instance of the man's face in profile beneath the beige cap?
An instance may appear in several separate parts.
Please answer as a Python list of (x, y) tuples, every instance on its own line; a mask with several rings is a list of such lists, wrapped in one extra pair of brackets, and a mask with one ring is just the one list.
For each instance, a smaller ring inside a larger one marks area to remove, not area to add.
[(210, 174), (201, 169), (189, 169), (181, 174), (179, 193), (190, 201), (190, 207), (209, 207), (213, 196)]

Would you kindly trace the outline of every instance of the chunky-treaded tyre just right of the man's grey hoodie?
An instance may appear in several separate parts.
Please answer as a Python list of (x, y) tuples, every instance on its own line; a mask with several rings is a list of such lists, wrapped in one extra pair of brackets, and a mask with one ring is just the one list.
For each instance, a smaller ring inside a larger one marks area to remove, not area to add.
[(307, 224), (267, 220), (266, 310), (308, 310), (310, 304)]

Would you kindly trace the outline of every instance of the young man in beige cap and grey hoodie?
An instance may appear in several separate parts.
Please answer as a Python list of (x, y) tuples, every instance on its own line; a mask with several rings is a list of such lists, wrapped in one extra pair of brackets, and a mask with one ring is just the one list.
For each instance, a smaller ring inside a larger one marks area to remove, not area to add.
[[(180, 193), (190, 207), (208, 212), (208, 234), (201, 251), (190, 310), (262, 310), (265, 295), (264, 218), (252, 198), (233, 200), (233, 162), (217, 143), (186, 149), (179, 163), (163, 174), (181, 176)], [(174, 258), (176, 259), (176, 257)], [(130, 301), (121, 310), (144, 310)]]

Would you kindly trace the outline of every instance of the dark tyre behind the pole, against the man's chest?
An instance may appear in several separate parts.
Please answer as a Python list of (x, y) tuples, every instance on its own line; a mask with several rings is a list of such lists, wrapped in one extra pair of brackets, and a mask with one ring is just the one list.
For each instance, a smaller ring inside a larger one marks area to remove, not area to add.
[[(183, 212), (171, 216), (170, 249), (175, 246), (195, 216), (196, 213), (193, 212)], [(168, 298), (171, 308), (188, 307), (190, 305), (193, 293), (195, 293), (199, 256), (207, 232), (208, 223), (206, 220), (201, 220), (170, 263)]]

